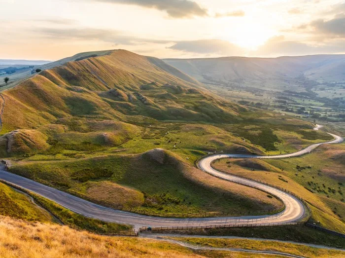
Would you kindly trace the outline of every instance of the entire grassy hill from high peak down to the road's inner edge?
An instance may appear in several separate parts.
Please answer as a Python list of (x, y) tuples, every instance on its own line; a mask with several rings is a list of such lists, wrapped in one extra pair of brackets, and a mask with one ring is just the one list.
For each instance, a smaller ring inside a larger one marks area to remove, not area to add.
[(157, 58), (110, 50), (55, 65), (2, 92), (0, 156), (15, 173), (111, 207), (273, 210), (276, 199), (200, 174), (194, 162), (209, 151), (281, 153), (325, 139), (306, 137), (309, 122), (214, 95)]

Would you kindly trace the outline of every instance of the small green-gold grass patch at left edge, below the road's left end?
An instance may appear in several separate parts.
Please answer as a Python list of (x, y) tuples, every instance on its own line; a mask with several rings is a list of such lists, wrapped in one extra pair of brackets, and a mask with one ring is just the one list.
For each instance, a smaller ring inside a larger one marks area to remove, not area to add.
[(51, 222), (52, 217), (28, 196), (0, 183), (0, 215), (25, 221)]

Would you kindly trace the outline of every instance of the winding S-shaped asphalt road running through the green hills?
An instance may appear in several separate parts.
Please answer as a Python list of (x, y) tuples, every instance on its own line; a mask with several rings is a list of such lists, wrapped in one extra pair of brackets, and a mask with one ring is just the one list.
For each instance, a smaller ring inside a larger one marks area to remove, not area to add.
[[(317, 130), (319, 127), (314, 128)], [(30, 179), (8, 173), (5, 169), (0, 169), (0, 179), (11, 183), (16, 184), (20, 187), (33, 191), (41, 196), (44, 196), (65, 208), (84, 215), (86, 217), (99, 219), (102, 221), (117, 222), (135, 225), (136, 228), (140, 226), (151, 226), (151, 227), (196, 227), (196, 226), (222, 226), (222, 225), (248, 225), (248, 224), (257, 224), (257, 225), (267, 225), (267, 224), (280, 224), (280, 223), (289, 223), (298, 221), (301, 219), (304, 214), (304, 206), (302, 202), (282, 190), (279, 190), (275, 187), (268, 186), (266, 184), (260, 184), (249, 179), (243, 179), (240, 177), (228, 175), (221, 173), (211, 167), (212, 161), (219, 158), (226, 157), (237, 157), (237, 158), (286, 158), (299, 156), (305, 153), (309, 153), (314, 148), (322, 144), (336, 144), (341, 143), (344, 139), (340, 136), (330, 134), (335, 139), (333, 141), (313, 144), (305, 149), (297, 151), (291, 154), (284, 155), (275, 155), (275, 156), (258, 156), (258, 155), (241, 155), (241, 154), (216, 154), (203, 158), (199, 162), (199, 167), (220, 179), (235, 182), (238, 184), (244, 184), (251, 187), (255, 187), (261, 190), (264, 190), (268, 193), (276, 195), (280, 198), (285, 204), (285, 210), (275, 214), (275, 215), (263, 215), (263, 216), (246, 216), (246, 217), (224, 217), (224, 218), (196, 218), (196, 219), (176, 219), (176, 218), (160, 218), (160, 217), (150, 217), (145, 215), (139, 215), (130, 212), (118, 211), (111, 208), (106, 208), (104, 206), (97, 205), (95, 203), (80, 199), (76, 196), (62, 192), (55, 188), (46, 186), (44, 184), (39, 184)]]

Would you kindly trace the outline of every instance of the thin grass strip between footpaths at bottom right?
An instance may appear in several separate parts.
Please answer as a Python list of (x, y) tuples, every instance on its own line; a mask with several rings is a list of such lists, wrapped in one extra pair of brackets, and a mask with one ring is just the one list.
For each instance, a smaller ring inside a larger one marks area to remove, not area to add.
[(169, 239), (183, 241), (188, 244), (219, 247), (219, 248), (240, 248), (262, 251), (276, 251), (303, 257), (344, 257), (345, 251), (327, 250), (309, 247), (305, 245), (282, 243), (265, 240), (246, 240), (246, 239), (215, 239), (215, 238), (190, 238), (190, 237), (168, 237)]

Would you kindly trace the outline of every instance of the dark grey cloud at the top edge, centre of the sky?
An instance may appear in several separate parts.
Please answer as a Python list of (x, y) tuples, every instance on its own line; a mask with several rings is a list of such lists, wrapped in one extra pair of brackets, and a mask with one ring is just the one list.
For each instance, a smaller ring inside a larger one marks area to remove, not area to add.
[(207, 16), (207, 9), (191, 0), (96, 0), (110, 3), (138, 5), (166, 11), (172, 18)]

